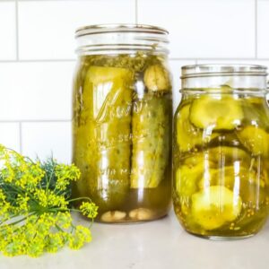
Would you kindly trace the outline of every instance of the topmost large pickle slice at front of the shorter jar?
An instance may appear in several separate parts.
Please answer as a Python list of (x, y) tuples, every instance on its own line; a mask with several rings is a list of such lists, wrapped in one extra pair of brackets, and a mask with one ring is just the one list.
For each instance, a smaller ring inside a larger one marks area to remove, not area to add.
[(232, 130), (243, 117), (239, 100), (226, 95), (201, 96), (190, 108), (191, 123), (202, 129)]

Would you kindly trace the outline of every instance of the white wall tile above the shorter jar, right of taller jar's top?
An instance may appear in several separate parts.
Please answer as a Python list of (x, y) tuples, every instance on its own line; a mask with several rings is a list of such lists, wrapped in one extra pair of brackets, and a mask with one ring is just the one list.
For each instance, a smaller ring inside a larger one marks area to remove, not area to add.
[(255, 56), (254, 0), (138, 0), (137, 12), (169, 30), (172, 57)]

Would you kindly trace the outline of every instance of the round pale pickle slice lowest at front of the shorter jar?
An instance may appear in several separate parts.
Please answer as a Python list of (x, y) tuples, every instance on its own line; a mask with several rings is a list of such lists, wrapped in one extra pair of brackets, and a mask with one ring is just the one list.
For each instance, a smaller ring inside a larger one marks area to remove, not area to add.
[(227, 187), (207, 187), (192, 195), (194, 221), (204, 230), (214, 230), (234, 221), (241, 212), (241, 206), (240, 196)]

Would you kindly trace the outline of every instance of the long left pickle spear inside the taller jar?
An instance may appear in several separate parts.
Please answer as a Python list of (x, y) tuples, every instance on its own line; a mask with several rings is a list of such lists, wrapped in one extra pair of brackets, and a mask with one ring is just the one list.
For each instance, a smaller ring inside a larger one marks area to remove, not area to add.
[(87, 120), (77, 139), (84, 148), (74, 161), (82, 169), (78, 188), (87, 186), (83, 193), (100, 212), (124, 203), (130, 185), (132, 83), (127, 69), (91, 66), (83, 84), (82, 114)]

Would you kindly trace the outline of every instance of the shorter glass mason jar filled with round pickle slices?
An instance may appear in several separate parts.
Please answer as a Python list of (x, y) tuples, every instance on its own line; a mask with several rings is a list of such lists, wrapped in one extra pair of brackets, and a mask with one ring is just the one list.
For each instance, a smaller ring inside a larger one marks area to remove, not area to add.
[(256, 234), (269, 204), (266, 67), (182, 67), (173, 202), (184, 228), (209, 239)]

